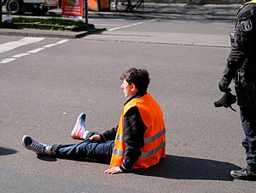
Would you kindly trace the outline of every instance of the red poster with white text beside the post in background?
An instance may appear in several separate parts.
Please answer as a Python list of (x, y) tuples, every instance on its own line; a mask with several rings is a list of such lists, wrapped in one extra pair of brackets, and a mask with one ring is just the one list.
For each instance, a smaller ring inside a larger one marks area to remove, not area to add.
[(62, 0), (62, 17), (83, 19), (83, 0)]

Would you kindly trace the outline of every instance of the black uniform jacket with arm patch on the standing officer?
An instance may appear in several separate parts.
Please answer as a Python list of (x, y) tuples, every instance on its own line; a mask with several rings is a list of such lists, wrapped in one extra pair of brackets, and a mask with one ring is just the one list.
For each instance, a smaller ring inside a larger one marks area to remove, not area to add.
[[(236, 26), (231, 37), (231, 50), (224, 69), (224, 76), (228, 79), (236, 78), (237, 71), (242, 65), (251, 65), (247, 73), (256, 69), (256, 4), (248, 3), (239, 9)], [(250, 76), (250, 77), (253, 77)]]

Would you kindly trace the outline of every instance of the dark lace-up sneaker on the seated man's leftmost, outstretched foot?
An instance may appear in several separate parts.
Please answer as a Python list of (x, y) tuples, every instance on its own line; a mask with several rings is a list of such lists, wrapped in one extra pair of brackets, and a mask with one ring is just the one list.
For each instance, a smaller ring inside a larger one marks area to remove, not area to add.
[(49, 146), (41, 144), (30, 136), (24, 135), (22, 144), (27, 150), (32, 150), (37, 154), (49, 155)]

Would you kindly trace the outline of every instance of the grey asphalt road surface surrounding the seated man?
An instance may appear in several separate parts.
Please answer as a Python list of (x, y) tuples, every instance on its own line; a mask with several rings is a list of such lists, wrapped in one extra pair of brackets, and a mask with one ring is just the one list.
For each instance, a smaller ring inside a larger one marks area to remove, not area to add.
[[(238, 106), (213, 107), (233, 24), (93, 23), (108, 31), (78, 40), (28, 38), (32, 43), (23, 39), (14, 49), (17, 43), (3, 43), (23, 37), (0, 37), (0, 192), (255, 191), (255, 182), (229, 174), (246, 165)], [(49, 145), (79, 142), (70, 133), (80, 112), (89, 130), (116, 126), (125, 102), (119, 76), (133, 66), (148, 69), (148, 92), (164, 112), (166, 158), (157, 166), (108, 175), (107, 164), (36, 156), (21, 145), (25, 134)]]

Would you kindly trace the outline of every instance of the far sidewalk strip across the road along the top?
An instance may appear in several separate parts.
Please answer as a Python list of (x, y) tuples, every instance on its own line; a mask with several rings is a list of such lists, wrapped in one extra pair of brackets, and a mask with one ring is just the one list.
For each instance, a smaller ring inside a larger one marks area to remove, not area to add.
[[(111, 3), (110, 11), (89, 11), (92, 17), (139, 17), (160, 20), (234, 20), (241, 4), (144, 3), (144, 9), (118, 12)], [(49, 14), (61, 15), (61, 9)]]

